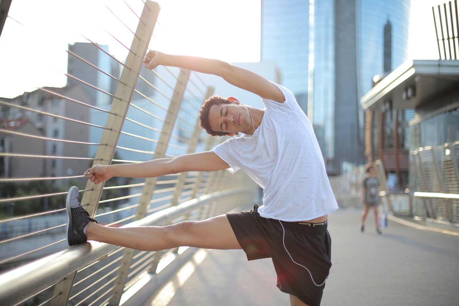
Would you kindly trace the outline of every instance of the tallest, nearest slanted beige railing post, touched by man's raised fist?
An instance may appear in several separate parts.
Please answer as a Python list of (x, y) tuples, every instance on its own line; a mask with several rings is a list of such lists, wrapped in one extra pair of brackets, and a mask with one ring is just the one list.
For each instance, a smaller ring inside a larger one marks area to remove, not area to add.
[[(147, 7), (148, 6), (148, 7)], [(151, 34), (155, 28), (155, 24), (159, 14), (159, 5), (156, 2), (147, 0), (146, 5), (140, 16), (140, 22), (135, 31), (134, 39), (131, 44), (131, 52), (125, 62), (125, 67), (121, 73), (120, 83), (116, 89), (115, 96), (119, 99), (113, 99), (110, 111), (116, 115), (109, 114), (106, 120), (105, 127), (110, 130), (104, 129), (101, 137), (101, 143), (107, 145), (99, 146), (95, 155), (96, 159), (102, 161), (95, 161), (94, 164), (100, 163), (108, 165), (112, 161), (113, 154), (115, 154), (116, 144), (118, 142), (121, 129), (123, 128), (124, 119), (128, 112), (129, 104), (134, 94), (135, 84), (139, 78), (140, 68), (143, 65), (143, 57), (146, 53), (148, 44), (150, 43)], [(130, 67), (130, 69), (126, 68)], [(93, 165), (94, 165), (93, 164)], [(88, 181), (85, 189), (92, 189), (92, 191), (85, 192), (81, 204), (94, 217), (97, 205), (101, 198), (102, 189), (104, 184), (95, 185)], [(65, 277), (65, 280), (57, 284), (54, 288), (54, 295), (60, 294), (56, 299), (51, 300), (50, 306), (65, 306), (68, 303), (70, 290), (73, 287), (76, 272), (71, 273)]]

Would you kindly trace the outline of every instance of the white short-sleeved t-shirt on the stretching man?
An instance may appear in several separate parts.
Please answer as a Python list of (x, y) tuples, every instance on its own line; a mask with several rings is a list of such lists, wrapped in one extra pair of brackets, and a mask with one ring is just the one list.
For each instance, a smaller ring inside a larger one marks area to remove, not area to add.
[[(275, 83), (274, 83), (275, 84)], [(264, 115), (253, 135), (233, 137), (211, 151), (263, 188), (262, 217), (303, 221), (338, 208), (311, 122), (290, 90), (275, 84), (285, 102), (263, 99)]]

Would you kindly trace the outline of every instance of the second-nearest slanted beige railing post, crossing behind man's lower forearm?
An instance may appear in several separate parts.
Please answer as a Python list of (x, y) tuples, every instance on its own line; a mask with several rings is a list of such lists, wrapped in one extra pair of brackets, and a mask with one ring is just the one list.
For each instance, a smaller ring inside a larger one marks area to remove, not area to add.
[[(168, 113), (162, 126), (161, 134), (158, 139), (158, 144), (155, 149), (153, 159), (163, 158), (166, 149), (169, 144), (169, 139), (174, 128), (175, 120), (179, 113), (180, 104), (183, 100), (183, 94), (185, 93), (186, 83), (190, 77), (190, 70), (180, 69), (179, 78), (174, 89), (174, 95), (172, 95), (171, 102), (169, 105)], [(148, 208), (150, 207), (151, 196), (153, 195), (157, 178), (146, 178), (145, 186), (142, 190), (140, 197), (139, 206), (135, 213), (134, 221), (140, 220), (146, 217)], [(128, 276), (129, 268), (131, 266), (132, 258), (134, 256), (133, 249), (124, 249), (123, 259), (120, 262), (120, 268), (118, 270), (118, 278), (116, 279), (116, 287), (113, 289), (113, 297), (109, 301), (108, 305), (118, 306), (123, 294), (124, 284), (126, 284), (126, 278)]]

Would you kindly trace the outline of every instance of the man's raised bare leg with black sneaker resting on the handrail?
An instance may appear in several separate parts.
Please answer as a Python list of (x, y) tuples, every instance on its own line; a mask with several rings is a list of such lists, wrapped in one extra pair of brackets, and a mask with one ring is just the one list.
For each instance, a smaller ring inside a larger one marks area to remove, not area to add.
[(101, 226), (83, 209), (78, 188), (67, 195), (67, 241), (77, 245), (89, 240), (137, 250), (167, 250), (178, 246), (207, 249), (241, 249), (225, 215), (203, 221), (184, 221), (169, 226), (110, 228)]

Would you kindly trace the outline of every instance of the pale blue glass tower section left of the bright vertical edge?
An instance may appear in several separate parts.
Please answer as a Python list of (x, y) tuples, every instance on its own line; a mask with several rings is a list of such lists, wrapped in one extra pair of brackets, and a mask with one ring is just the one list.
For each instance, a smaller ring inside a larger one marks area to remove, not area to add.
[(307, 113), (308, 19), (305, 0), (261, 1), (261, 60), (275, 62), (282, 85)]

